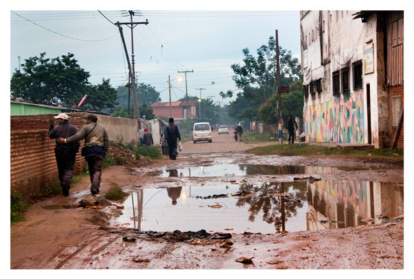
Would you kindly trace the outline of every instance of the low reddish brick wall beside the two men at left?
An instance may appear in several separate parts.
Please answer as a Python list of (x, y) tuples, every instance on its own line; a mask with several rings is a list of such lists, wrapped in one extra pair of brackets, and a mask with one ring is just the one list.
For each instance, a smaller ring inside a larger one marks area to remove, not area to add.
[[(77, 128), (86, 124), (81, 113), (69, 113)], [(49, 121), (56, 114), (10, 117), (10, 187), (23, 194), (41, 193), (50, 183), (59, 182), (55, 159), (55, 140), (49, 138)], [(83, 146), (83, 141), (81, 141)], [(85, 159), (77, 154), (75, 172), (80, 173)]]

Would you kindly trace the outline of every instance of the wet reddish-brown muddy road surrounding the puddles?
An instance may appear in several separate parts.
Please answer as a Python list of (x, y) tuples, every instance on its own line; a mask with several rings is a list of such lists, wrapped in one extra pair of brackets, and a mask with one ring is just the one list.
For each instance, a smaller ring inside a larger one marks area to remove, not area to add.
[[(404, 182), (401, 161), (373, 160), (370, 157), (260, 157), (243, 152), (253, 146), (265, 144), (235, 143), (228, 135), (215, 135), (213, 143), (186, 142), (177, 161), (169, 161), (164, 157), (152, 163), (146, 161), (141, 166), (106, 168), (103, 170), (100, 194), (103, 196), (113, 187), (130, 192), (160, 185), (200, 183), (206, 179), (147, 177), (144, 174), (155, 169), (199, 164), (208, 166), (217, 162), (358, 166), (366, 170), (342, 172), (337, 176), (343, 179)], [(330, 176), (323, 174), (319, 177), (329, 179)], [(222, 179), (212, 177), (208, 180)], [(257, 181), (257, 177), (235, 177), (232, 180)], [(293, 181), (293, 175), (261, 176), (261, 180)], [(231, 234), (230, 239), (197, 239), (188, 242), (170, 238), (168, 234), (157, 236), (121, 227), (113, 223), (111, 214), (102, 209), (68, 207), (77, 205), (81, 199), (88, 197), (92, 196), (89, 192), (88, 177), (85, 177), (71, 188), (69, 197), (59, 194), (30, 206), (25, 214), (25, 221), (11, 227), (10, 268), (270, 269), (295, 272), (316, 269), (391, 269), (401, 272), (404, 269), (403, 217), (390, 219), (388, 223), (355, 228), (274, 234), (245, 232)], [(68, 208), (63, 208), (64, 206)], [(240, 257), (244, 257), (244, 263)], [(407, 265), (409, 266), (405, 263), (405, 266)], [(243, 275), (246, 277), (248, 274)], [(226, 278), (232, 276), (228, 275)]]

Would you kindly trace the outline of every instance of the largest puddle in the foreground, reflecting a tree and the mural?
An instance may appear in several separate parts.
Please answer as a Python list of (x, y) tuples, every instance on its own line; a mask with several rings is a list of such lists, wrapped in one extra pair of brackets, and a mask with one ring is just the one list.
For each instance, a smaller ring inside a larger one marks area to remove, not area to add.
[(353, 180), (217, 183), (138, 190), (124, 206), (116, 223), (139, 230), (296, 232), (389, 221), (403, 214), (404, 187)]

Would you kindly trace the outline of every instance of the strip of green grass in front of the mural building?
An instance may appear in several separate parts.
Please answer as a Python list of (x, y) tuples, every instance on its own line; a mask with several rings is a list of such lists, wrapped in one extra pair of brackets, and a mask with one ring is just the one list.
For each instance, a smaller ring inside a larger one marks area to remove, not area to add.
[(374, 149), (367, 148), (357, 150), (342, 147), (326, 147), (308, 144), (282, 144), (257, 147), (248, 150), (253, 154), (280, 154), (283, 156), (302, 156), (302, 155), (352, 155), (352, 156), (375, 156), (375, 157), (395, 157), (402, 158), (404, 150), (400, 149)]

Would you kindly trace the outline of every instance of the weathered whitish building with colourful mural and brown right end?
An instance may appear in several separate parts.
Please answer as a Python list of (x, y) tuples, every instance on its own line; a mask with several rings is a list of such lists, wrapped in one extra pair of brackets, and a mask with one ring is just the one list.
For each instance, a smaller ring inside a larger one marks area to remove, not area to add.
[(308, 142), (404, 148), (402, 11), (301, 11)]

